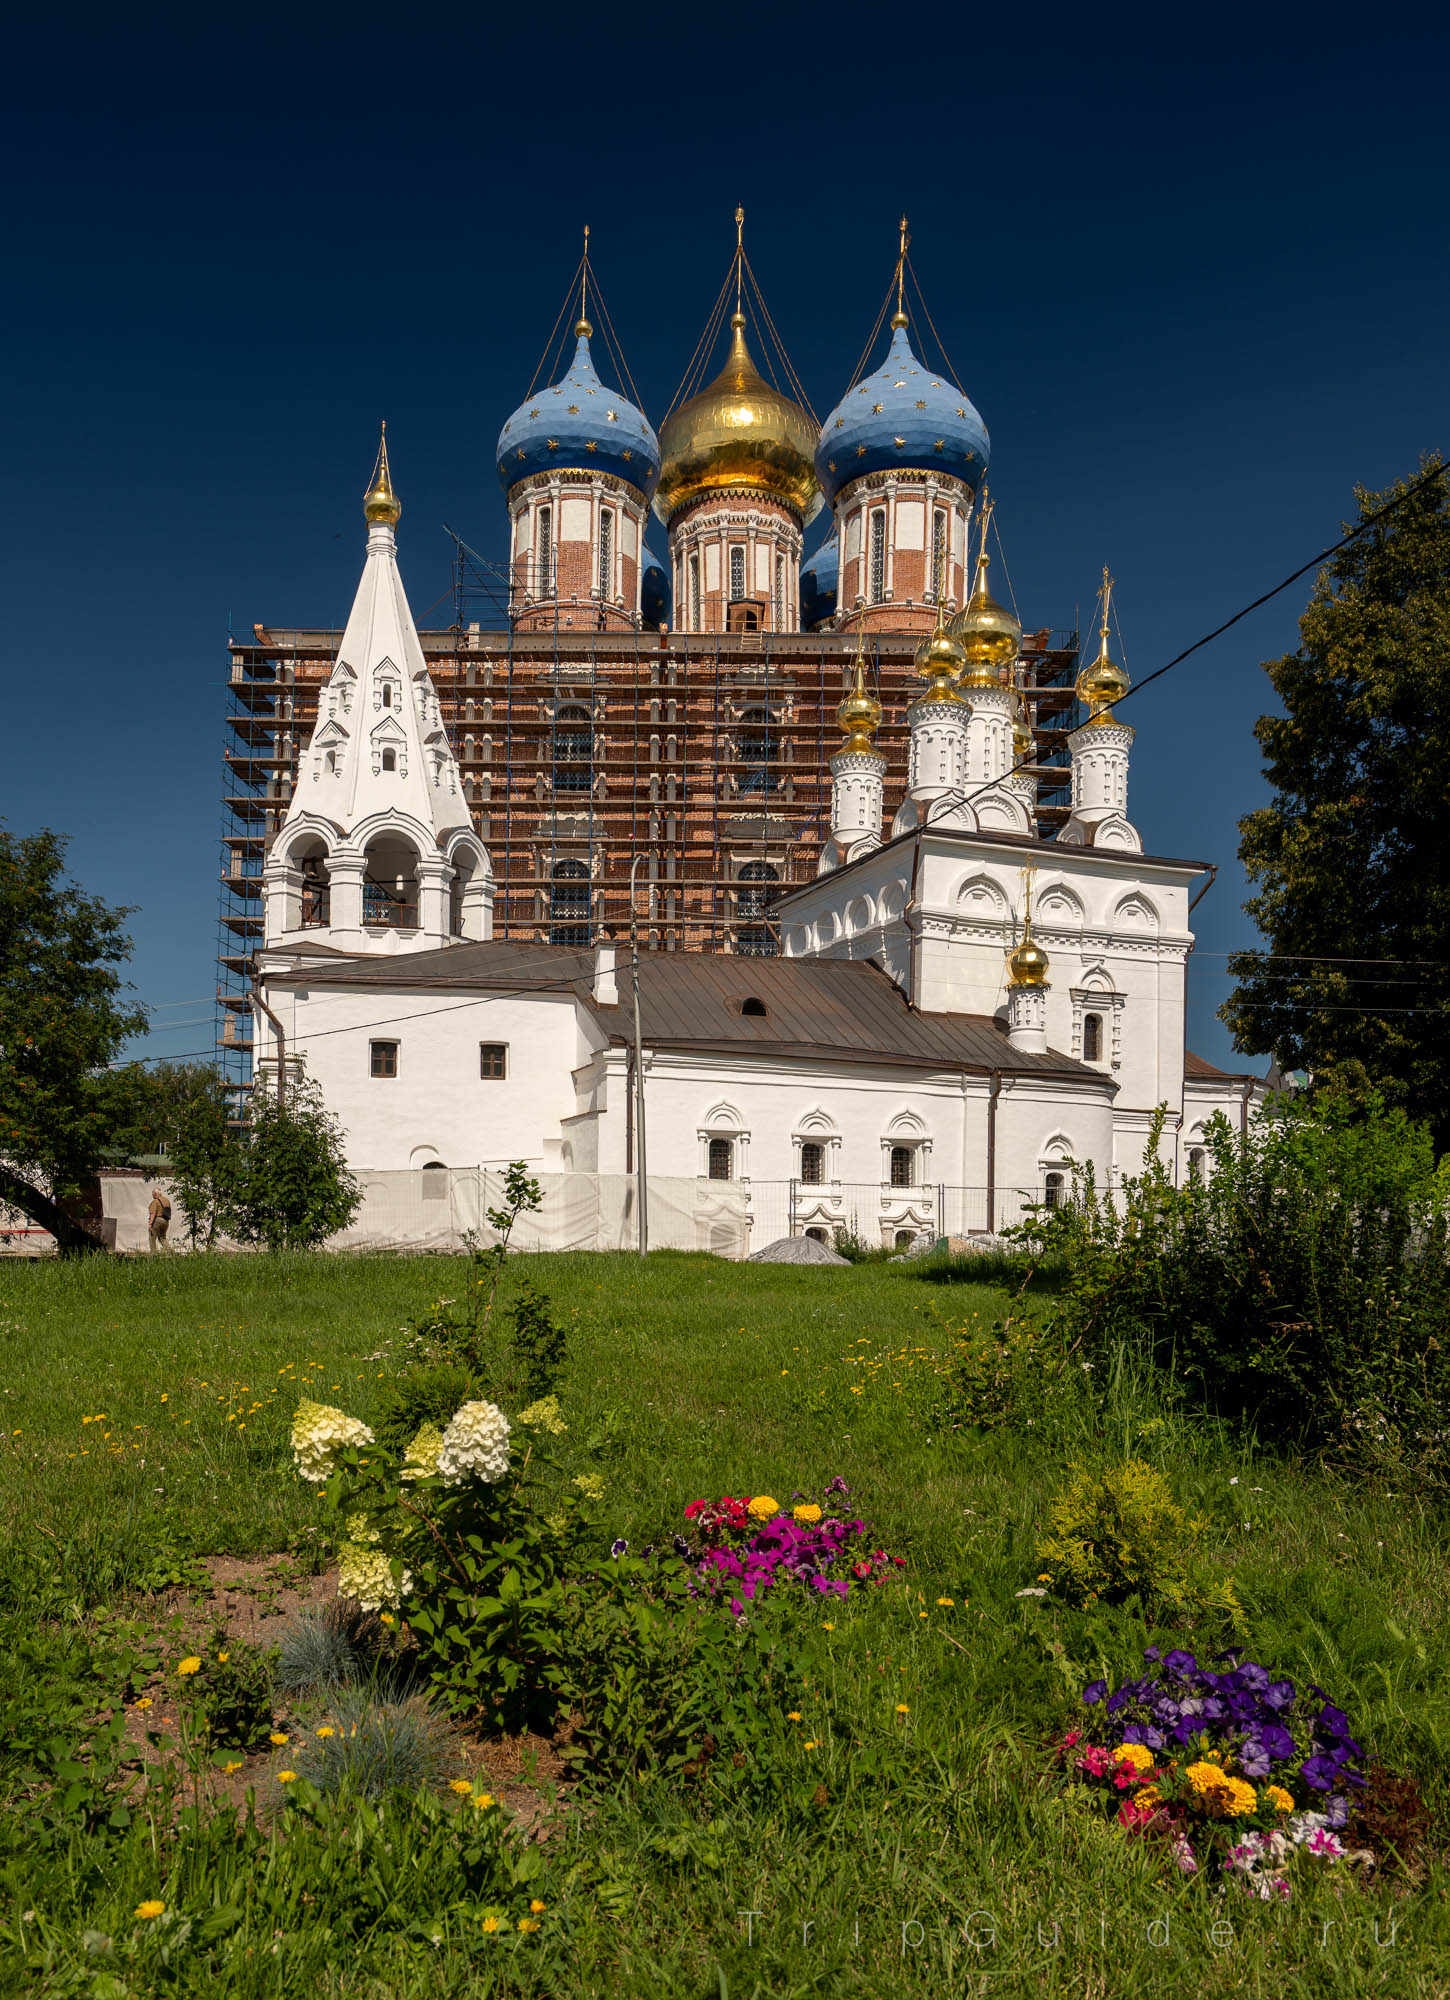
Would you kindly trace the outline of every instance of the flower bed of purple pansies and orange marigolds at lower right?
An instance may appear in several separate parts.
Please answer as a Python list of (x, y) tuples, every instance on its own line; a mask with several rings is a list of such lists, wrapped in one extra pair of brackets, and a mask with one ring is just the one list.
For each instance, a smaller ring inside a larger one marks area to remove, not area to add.
[(1222, 1672), (1150, 1646), (1138, 1680), (1094, 1680), (1082, 1700), (1102, 1708), (1100, 1740), (1072, 1730), (1058, 1760), (1124, 1830), (1166, 1840), (1184, 1874), (1222, 1870), (1266, 1902), (1288, 1898), (1296, 1862), (1368, 1858), (1340, 1840), (1364, 1750), (1322, 1688), (1300, 1694), (1238, 1648), (1218, 1658)]

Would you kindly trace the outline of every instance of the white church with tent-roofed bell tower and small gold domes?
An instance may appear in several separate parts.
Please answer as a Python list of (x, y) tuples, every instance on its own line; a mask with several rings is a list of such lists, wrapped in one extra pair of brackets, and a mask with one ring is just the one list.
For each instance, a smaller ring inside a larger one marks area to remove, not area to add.
[[(632, 1244), (630, 948), (492, 936), (490, 858), (398, 574), (386, 448), (364, 510), (362, 582), (264, 870), (258, 1088), (280, 1062), (318, 1082), (370, 1190), (354, 1240), (448, 1240), (430, 1202), (450, 1194), (456, 1234), (486, 1174), (526, 1160), (558, 1218), (536, 1240)], [(816, 880), (774, 904), (780, 956), (640, 954), (652, 1244), (994, 1232), (1054, 1202), (1072, 1164), (1100, 1186), (1136, 1172), (1158, 1106), (1170, 1168), (1194, 1172), (1206, 1120), (1240, 1124), (1262, 1094), (1184, 1048), (1190, 906), (1210, 870), (1146, 854), (1128, 818), (1106, 584), (1054, 840), (1036, 838), (1032, 778), (1014, 768), (1030, 748), (1018, 642), (982, 556), (952, 632), (938, 612), (918, 648), (892, 826), (858, 652), (830, 838)]]

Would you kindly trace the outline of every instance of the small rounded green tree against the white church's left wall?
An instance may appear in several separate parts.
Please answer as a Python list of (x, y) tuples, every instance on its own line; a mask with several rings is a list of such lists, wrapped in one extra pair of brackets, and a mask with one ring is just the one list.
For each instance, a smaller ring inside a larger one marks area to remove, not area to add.
[(236, 1180), (218, 1202), (226, 1230), (268, 1250), (308, 1250), (344, 1230), (360, 1206), (362, 1188), (348, 1172), (342, 1132), (318, 1084), (300, 1078), (286, 1104), (254, 1092)]

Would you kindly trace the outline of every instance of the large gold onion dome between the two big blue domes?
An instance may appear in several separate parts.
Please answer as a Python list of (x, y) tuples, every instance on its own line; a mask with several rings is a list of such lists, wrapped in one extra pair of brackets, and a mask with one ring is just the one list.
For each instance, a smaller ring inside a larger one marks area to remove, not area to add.
[(746, 316), (732, 312), (724, 368), (660, 430), (654, 512), (668, 524), (704, 494), (764, 494), (810, 522), (820, 512), (812, 442), (810, 418), (764, 380), (746, 348)]

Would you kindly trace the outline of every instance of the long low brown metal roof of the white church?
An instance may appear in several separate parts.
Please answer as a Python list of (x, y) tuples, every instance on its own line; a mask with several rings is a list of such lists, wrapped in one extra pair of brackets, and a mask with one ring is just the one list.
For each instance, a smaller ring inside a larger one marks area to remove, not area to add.
[[(594, 1000), (594, 952), (490, 938), (398, 958), (272, 972), (268, 984), (384, 986), (390, 990), (574, 992), (612, 1040), (628, 1042), (628, 952), (616, 970), (620, 1006)], [(758, 1000), (764, 1014), (744, 1014)], [(988, 1014), (918, 1014), (870, 960), (746, 958), (726, 952), (644, 952), (640, 1030), (652, 1048), (700, 1048), (762, 1056), (908, 1062), (916, 1068), (1006, 1070), (1102, 1082), (1102, 1072), (1052, 1050), (1012, 1048)]]

